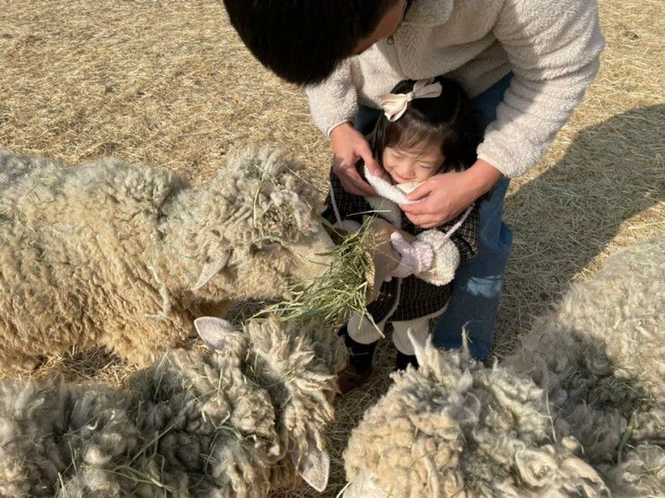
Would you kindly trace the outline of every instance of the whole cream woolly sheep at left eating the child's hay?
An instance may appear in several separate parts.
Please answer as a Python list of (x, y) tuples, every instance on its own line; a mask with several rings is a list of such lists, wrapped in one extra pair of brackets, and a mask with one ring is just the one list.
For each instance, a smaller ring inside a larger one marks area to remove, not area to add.
[(229, 159), (207, 185), (110, 159), (0, 150), (0, 368), (105, 346), (146, 365), (229, 300), (277, 296), (332, 246), (302, 166)]

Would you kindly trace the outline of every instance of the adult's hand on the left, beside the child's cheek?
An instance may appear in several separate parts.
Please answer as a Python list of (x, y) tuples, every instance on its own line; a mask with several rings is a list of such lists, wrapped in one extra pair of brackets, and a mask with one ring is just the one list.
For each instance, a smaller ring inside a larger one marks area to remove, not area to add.
[(334, 154), (333, 172), (339, 178), (345, 191), (354, 195), (376, 195), (371, 185), (365, 182), (355, 163), (365, 161), (365, 167), (374, 174), (379, 173), (379, 165), (371, 154), (370, 144), (351, 123), (344, 123), (330, 132), (330, 142)]

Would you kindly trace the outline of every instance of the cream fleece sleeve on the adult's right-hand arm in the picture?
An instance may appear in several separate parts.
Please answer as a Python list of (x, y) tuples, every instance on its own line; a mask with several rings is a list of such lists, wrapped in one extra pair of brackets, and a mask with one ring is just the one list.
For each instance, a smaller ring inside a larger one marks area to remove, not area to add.
[(514, 77), (478, 159), (519, 176), (541, 158), (584, 97), (604, 40), (595, 0), (506, 0), (493, 32)]

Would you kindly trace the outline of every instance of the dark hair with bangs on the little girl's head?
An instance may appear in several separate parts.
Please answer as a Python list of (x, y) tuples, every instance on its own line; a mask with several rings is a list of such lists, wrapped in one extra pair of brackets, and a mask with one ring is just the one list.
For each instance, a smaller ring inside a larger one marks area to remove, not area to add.
[[(439, 142), (445, 156), (440, 173), (462, 171), (476, 160), (481, 134), (473, 118), (471, 101), (459, 83), (441, 76), (434, 79), (442, 87), (441, 95), (430, 99), (413, 99), (404, 115), (394, 122), (381, 113), (371, 137), (371, 148), (383, 167), (383, 150), (399, 144), (410, 148)], [(415, 81), (396, 84), (391, 93), (408, 93)]]

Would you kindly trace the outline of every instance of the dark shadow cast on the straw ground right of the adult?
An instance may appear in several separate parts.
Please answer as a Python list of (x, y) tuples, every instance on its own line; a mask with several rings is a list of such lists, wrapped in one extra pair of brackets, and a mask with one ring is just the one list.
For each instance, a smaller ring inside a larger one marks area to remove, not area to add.
[(665, 200), (665, 106), (632, 109), (575, 135), (566, 155), (507, 198), (515, 236), (495, 352), (503, 356), (533, 317), (618, 236), (649, 238), (662, 218), (640, 213)]

